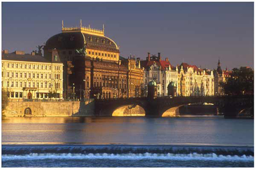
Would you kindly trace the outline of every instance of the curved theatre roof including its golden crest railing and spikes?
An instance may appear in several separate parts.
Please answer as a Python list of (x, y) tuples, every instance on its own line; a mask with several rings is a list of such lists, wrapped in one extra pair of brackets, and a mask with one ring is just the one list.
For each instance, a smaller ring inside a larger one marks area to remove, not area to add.
[(81, 49), (86, 45), (86, 48), (93, 50), (119, 53), (119, 46), (115, 41), (104, 35), (104, 25), (102, 30), (92, 29), (90, 25), (83, 27), (82, 22), (80, 27), (64, 27), (62, 21), (61, 31), (46, 41), (45, 49)]

